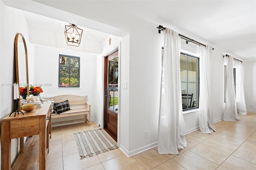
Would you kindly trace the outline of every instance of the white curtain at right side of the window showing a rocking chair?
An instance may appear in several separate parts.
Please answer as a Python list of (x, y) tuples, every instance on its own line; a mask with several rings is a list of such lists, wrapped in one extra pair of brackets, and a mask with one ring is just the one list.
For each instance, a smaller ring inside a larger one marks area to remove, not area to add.
[(212, 47), (200, 46), (199, 127), (202, 133), (216, 132), (212, 114)]

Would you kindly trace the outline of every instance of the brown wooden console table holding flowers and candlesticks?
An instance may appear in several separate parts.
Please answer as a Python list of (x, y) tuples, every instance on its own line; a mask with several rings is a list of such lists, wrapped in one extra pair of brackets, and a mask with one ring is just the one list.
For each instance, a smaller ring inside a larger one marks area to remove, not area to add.
[(14, 113), (1, 122), (1, 170), (11, 170), (11, 139), (20, 138), (20, 153), (23, 152), (25, 136), (39, 134), (39, 169), (46, 169), (46, 149), (51, 134), (51, 102), (44, 102), (42, 108), (24, 115)]

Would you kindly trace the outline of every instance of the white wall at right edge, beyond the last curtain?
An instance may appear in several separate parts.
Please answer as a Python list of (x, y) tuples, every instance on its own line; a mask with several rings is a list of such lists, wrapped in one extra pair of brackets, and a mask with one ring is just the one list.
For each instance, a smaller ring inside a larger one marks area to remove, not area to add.
[(256, 60), (244, 62), (244, 96), (247, 110), (256, 112)]

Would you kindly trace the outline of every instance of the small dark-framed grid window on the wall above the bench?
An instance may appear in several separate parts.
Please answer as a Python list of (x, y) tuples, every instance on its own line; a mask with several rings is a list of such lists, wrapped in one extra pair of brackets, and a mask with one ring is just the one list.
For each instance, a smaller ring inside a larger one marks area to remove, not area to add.
[(80, 87), (80, 57), (59, 55), (59, 87)]

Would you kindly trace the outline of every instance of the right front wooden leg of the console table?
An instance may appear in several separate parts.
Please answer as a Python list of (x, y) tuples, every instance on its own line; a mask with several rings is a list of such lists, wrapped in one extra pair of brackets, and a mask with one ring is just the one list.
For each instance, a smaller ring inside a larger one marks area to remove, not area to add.
[(39, 170), (46, 169), (46, 118), (39, 121)]

